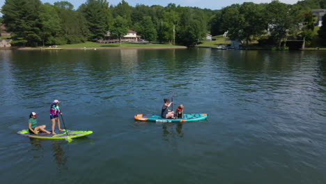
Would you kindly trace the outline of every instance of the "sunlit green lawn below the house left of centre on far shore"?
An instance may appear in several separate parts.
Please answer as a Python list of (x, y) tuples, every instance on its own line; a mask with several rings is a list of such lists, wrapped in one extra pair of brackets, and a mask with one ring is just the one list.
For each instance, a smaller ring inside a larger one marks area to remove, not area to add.
[(142, 47), (142, 48), (152, 48), (152, 47), (183, 47), (180, 45), (169, 45), (169, 44), (157, 44), (157, 43), (93, 43), (93, 42), (86, 42), (86, 43), (77, 43), (77, 44), (70, 44), (70, 45), (58, 45), (58, 48), (132, 48), (132, 47)]

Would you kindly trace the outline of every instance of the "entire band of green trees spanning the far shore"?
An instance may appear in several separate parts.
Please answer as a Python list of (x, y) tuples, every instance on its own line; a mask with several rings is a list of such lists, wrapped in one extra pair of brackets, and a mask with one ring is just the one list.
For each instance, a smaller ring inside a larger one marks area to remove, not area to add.
[[(68, 1), (6, 0), (1, 22), (13, 33), (13, 44), (22, 46), (64, 45), (96, 41), (110, 33), (121, 38), (128, 29), (148, 41), (193, 46), (228, 31), (235, 40), (260, 40), (281, 45), (289, 34), (311, 41), (315, 17), (311, 8), (326, 8), (326, 0), (233, 4), (222, 10), (168, 6), (132, 7), (122, 0), (117, 6), (107, 0), (87, 0), (77, 9)], [(268, 39), (260, 39), (270, 32)], [(320, 29), (323, 30), (323, 29)], [(323, 33), (320, 33), (322, 35)], [(325, 33), (324, 33), (325, 34)]]

